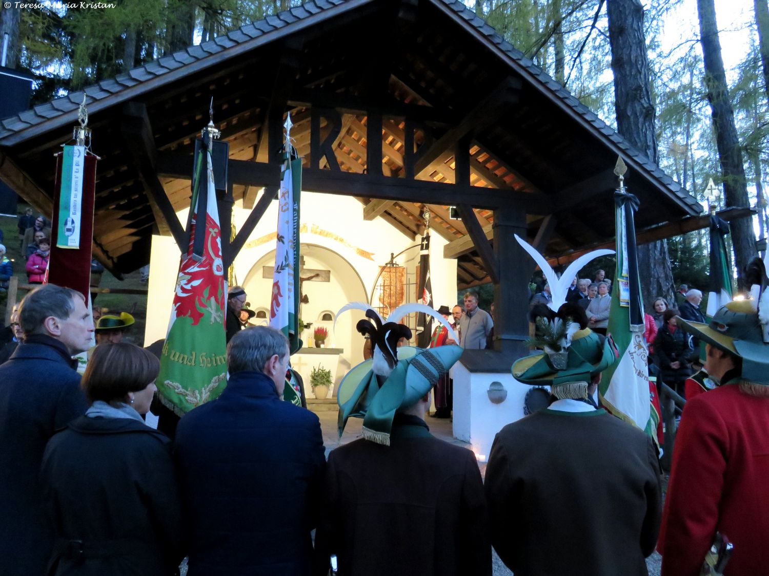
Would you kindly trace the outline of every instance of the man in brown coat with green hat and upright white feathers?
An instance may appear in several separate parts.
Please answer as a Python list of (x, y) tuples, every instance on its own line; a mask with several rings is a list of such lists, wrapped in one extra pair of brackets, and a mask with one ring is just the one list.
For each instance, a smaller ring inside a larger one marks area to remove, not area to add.
[[(564, 304), (558, 315), (566, 323), (580, 313)], [(494, 439), (485, 482), (492, 544), (515, 576), (646, 576), (661, 516), (657, 450), (594, 405), (616, 348), (584, 316), (579, 324), (564, 369), (544, 354), (513, 365), (518, 381), (549, 384), (554, 402)]]

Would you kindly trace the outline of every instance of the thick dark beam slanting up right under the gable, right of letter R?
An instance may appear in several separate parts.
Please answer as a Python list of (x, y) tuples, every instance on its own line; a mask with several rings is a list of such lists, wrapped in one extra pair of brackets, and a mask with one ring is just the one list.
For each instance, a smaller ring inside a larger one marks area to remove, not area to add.
[[(518, 101), (518, 93), (521, 90), (521, 81), (518, 78), (505, 78), (467, 114), (461, 121), (446, 131), (430, 147), (421, 154), (414, 164), (414, 174), (421, 174), (430, 164), (438, 159), (449, 148), (454, 147), (460, 138), (467, 136), (484, 126), (496, 121), (504, 111), (504, 106)], [(469, 150), (468, 150), (469, 154)]]

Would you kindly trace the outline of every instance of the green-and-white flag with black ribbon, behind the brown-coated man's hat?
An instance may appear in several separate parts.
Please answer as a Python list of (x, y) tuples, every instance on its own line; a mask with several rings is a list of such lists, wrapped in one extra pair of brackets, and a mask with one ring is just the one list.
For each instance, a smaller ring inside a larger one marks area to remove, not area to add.
[(654, 384), (649, 382), (649, 352), (644, 339), (644, 305), (636, 256), (634, 210), (638, 209), (638, 199), (621, 187), (614, 200), (617, 273), (607, 332), (620, 357), (604, 371), (598, 392), (601, 404), (609, 412), (638, 426), (657, 442), (660, 415), (653, 406)]

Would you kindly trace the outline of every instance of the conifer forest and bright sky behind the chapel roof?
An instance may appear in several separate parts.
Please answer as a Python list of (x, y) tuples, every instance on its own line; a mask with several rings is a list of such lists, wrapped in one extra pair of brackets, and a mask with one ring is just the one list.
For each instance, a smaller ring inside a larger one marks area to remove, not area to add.
[[(721, 207), (758, 210), (736, 236), (732, 227), (739, 281), (741, 266), (755, 253), (756, 237), (765, 238), (769, 231), (762, 184), (769, 170), (767, 0), (464, 3), (641, 151), (656, 156), (697, 200), (707, 200), (712, 179), (722, 190)], [(9, 38), (6, 65), (38, 76), (33, 94), (38, 104), (301, 5), (301, 0), (112, 0), (90, 9), (62, 2), (38, 2), (35, 8), (9, 4), (0, 12), (0, 39), (6, 33)], [(629, 40), (635, 29), (636, 40)], [(714, 55), (722, 67), (725, 62), (723, 80)], [(639, 74), (628, 76), (628, 61), (641, 63)], [(647, 79), (634, 78), (644, 77), (644, 69)], [(631, 86), (628, 78), (641, 84)], [(641, 114), (618, 123), (634, 106)], [(727, 126), (728, 108), (733, 130)], [(647, 299), (672, 296), (674, 283), (707, 293), (707, 230), (658, 244), (647, 254), (651, 274), (641, 274), (656, 277), (644, 286)], [(614, 275), (611, 263), (592, 267), (598, 266)]]

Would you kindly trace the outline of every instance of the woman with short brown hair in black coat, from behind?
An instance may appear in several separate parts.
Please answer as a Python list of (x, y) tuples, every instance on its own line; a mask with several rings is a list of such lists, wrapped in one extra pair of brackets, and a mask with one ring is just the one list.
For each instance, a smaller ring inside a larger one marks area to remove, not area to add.
[(160, 364), (128, 343), (97, 346), (82, 379), (91, 408), (48, 442), (41, 479), (56, 541), (48, 576), (165, 576), (181, 554), (171, 443), (141, 420)]

